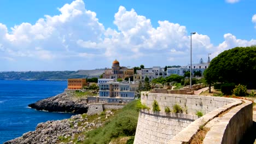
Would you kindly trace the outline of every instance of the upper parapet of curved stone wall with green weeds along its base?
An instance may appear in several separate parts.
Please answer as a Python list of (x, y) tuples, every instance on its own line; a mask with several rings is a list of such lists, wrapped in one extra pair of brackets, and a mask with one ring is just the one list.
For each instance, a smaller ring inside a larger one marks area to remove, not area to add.
[(142, 104), (146, 104), (152, 109), (154, 100), (158, 101), (161, 110), (165, 110), (166, 106), (170, 107), (171, 109), (174, 104), (179, 104), (184, 109), (187, 109), (188, 114), (193, 115), (195, 115), (197, 111), (201, 111), (203, 114), (205, 114), (226, 104), (234, 102), (232, 99), (222, 97), (142, 92)]

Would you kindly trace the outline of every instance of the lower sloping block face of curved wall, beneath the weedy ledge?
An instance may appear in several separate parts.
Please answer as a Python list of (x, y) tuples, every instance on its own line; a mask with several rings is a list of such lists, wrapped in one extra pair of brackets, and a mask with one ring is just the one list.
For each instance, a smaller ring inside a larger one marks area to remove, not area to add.
[(197, 118), (183, 113), (141, 110), (134, 143), (167, 143)]

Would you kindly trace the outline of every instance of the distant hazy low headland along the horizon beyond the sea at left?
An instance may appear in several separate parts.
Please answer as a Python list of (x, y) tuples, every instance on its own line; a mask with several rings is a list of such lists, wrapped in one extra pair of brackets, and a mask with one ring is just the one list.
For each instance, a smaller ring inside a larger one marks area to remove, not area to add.
[(77, 71), (0, 71), (0, 80), (67, 80), (99, 77), (104, 69)]

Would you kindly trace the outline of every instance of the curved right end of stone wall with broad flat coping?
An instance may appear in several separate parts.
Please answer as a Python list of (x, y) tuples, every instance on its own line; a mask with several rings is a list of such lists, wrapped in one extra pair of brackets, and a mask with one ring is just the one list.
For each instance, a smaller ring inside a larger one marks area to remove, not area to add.
[(243, 100), (245, 103), (231, 109), (220, 118), (206, 134), (203, 143), (239, 143), (246, 130), (252, 127), (252, 102)]

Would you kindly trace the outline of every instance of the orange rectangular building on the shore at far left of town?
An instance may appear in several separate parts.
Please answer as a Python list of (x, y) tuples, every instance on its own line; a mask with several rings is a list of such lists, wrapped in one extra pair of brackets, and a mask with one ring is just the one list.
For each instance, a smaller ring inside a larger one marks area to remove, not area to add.
[(68, 79), (68, 89), (82, 89), (86, 85), (86, 79)]

